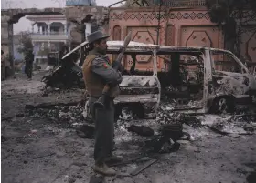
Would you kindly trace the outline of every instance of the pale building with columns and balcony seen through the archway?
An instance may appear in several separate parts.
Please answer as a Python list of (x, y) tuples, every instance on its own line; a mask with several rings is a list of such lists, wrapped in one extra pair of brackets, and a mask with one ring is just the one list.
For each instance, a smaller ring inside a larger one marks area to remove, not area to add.
[[(35, 60), (47, 59), (49, 52), (59, 52), (62, 46), (71, 49), (71, 42), (80, 42), (76, 34), (76, 25), (68, 22), (65, 15), (29, 15), (31, 21), (31, 39)], [(91, 33), (91, 23), (85, 23), (85, 35)]]

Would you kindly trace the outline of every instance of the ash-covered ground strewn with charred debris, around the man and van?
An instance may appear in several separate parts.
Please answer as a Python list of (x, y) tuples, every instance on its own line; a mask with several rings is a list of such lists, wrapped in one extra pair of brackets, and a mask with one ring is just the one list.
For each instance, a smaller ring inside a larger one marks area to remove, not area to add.
[[(48, 97), (42, 97), (41, 90), (32, 83), (40, 82), (12, 79), (2, 84), (3, 181), (89, 182), (94, 174), (94, 127), (83, 117), (84, 107), (65, 105), (74, 97), (80, 98), (80, 91), (52, 91)], [(45, 101), (52, 106), (36, 105)], [(127, 161), (112, 166), (126, 178), (100, 178), (100, 182), (254, 182), (255, 163), (251, 168), (244, 165), (256, 158), (253, 114), (247, 115), (244, 109), (244, 113), (189, 116), (172, 112), (172, 101), (164, 101), (156, 120), (140, 120), (133, 113), (123, 112), (123, 118), (115, 123), (114, 153)], [(32, 106), (24, 111), (28, 102)], [(132, 125), (149, 127), (154, 135), (142, 137), (131, 133), (127, 127)], [(209, 130), (208, 126), (219, 127), (224, 133), (242, 129), (250, 136), (230, 138)], [(79, 137), (79, 130), (87, 135)], [(137, 176), (130, 175), (150, 158), (155, 159), (154, 155), (160, 158), (152, 168)]]

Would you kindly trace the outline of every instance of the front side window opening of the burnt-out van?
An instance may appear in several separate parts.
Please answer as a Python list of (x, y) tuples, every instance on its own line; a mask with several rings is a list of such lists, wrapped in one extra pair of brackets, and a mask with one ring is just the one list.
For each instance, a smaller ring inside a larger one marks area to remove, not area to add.
[(242, 73), (240, 64), (227, 52), (212, 51), (211, 61), (214, 71)]

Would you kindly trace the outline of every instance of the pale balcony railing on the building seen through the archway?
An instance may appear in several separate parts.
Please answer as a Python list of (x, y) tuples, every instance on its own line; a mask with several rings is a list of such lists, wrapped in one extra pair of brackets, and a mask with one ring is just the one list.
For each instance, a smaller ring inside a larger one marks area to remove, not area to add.
[(63, 41), (68, 40), (69, 35), (65, 32), (44, 32), (44, 33), (30, 33), (33, 41)]

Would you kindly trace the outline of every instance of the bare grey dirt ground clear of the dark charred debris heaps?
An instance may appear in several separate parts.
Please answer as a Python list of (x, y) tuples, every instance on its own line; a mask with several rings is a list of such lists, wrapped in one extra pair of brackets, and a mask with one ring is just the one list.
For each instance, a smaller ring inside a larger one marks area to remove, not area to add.
[[(43, 96), (40, 90), (43, 84), (39, 81), (43, 75), (37, 72), (28, 81), (18, 74), (1, 83), (1, 180), (3, 183), (89, 182), (94, 175), (93, 140), (77, 135), (73, 127), (76, 120), (39, 117), (35, 111), (25, 110), (27, 104), (79, 101), (83, 91), (51, 92)], [(203, 118), (206, 123), (210, 120), (208, 115)], [(157, 127), (155, 121), (129, 123)], [(121, 120), (116, 124), (115, 153), (128, 159), (142, 152), (145, 137), (127, 132), (124, 125)], [(178, 151), (162, 154), (137, 176), (104, 178), (105, 181), (245, 183), (248, 175), (256, 171), (255, 133), (230, 137), (205, 125), (196, 128), (184, 125), (184, 129), (192, 138), (182, 141)], [(143, 165), (135, 162), (115, 169), (125, 173)]]

